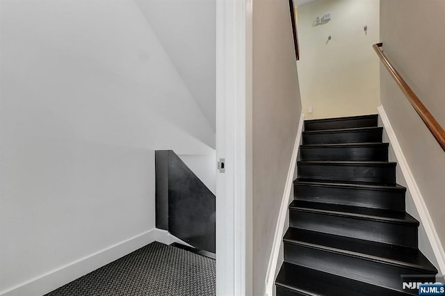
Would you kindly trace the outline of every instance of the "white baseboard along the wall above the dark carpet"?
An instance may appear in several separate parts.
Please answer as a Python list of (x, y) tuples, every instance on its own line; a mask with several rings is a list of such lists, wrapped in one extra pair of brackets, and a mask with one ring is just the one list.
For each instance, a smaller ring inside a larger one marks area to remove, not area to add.
[(168, 231), (161, 229), (150, 229), (143, 233), (133, 236), (122, 242), (118, 242), (115, 245), (101, 249), (98, 252), (80, 258), (76, 261), (60, 266), (55, 270), (51, 270), (44, 274), (40, 274), (38, 277), (29, 279), (19, 283), (16, 286), (7, 288), (0, 291), (1, 296), (35, 296), (44, 295), (46, 293), (55, 290), (56, 288), (78, 279), (88, 272), (97, 270), (108, 263), (115, 261), (122, 256), (125, 256), (136, 249), (148, 245), (154, 241), (163, 242), (166, 245), (170, 245), (172, 242), (182, 242), (175, 236), (172, 236)]

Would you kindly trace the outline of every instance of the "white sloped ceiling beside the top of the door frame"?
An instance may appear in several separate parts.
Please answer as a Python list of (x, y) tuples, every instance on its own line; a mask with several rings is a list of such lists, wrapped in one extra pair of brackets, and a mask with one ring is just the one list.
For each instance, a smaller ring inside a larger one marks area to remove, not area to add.
[(149, 26), (216, 130), (215, 0), (135, 0)]

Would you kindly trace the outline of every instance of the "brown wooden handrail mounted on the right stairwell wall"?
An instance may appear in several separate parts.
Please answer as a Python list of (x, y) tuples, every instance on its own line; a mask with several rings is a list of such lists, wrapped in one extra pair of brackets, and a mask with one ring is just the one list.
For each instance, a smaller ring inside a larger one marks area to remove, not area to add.
[(403, 79), (401, 74), (397, 72), (396, 68), (394, 67), (394, 65), (391, 64), (387, 56), (383, 54), (383, 51), (380, 50), (380, 47), (382, 47), (382, 45), (383, 43), (381, 42), (374, 44), (373, 48), (375, 52), (379, 56), (380, 60), (382, 60), (383, 65), (387, 67), (389, 73), (391, 74), (392, 78), (394, 78), (394, 80), (396, 81), (398, 87), (401, 88), (403, 93), (406, 95), (408, 101), (410, 101), (411, 105), (414, 107), (414, 110), (416, 110), (416, 112), (419, 114), (423, 122), (425, 122), (426, 126), (428, 127), (432, 135), (434, 135), (434, 137), (436, 138), (437, 142), (439, 142), (440, 147), (442, 147), (442, 149), (444, 149), (445, 151), (444, 129), (442, 128), (442, 126), (440, 126), (439, 122), (435, 120), (435, 117), (431, 115), (430, 111), (428, 111), (426, 106), (422, 104), (419, 97), (417, 97), (414, 91), (410, 88), (410, 85), (406, 83), (405, 79)]

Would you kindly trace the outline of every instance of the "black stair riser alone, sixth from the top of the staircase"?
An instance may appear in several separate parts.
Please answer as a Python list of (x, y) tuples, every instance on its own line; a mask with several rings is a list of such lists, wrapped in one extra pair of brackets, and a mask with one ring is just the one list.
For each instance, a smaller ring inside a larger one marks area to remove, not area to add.
[(418, 244), (417, 227), (412, 224), (387, 223), (296, 209), (289, 212), (291, 227), (407, 247), (417, 247)]

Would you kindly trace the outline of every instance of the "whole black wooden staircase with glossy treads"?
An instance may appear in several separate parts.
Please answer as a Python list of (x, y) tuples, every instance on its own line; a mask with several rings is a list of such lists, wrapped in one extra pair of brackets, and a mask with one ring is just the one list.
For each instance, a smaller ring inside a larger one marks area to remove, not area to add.
[(276, 295), (418, 295), (401, 275), (435, 282), (377, 121), (305, 121)]

